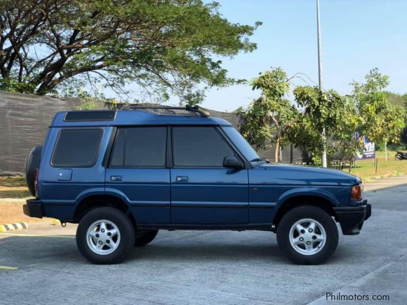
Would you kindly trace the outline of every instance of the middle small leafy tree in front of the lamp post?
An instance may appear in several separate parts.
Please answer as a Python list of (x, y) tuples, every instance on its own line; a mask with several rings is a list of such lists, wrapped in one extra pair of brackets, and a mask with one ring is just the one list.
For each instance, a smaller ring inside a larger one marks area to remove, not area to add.
[[(335, 90), (324, 92), (311, 86), (297, 86), (293, 93), (303, 111), (290, 128), (289, 140), (304, 147), (316, 164), (321, 163), (324, 146), (329, 159), (340, 153), (352, 161), (358, 149), (355, 132), (361, 124), (353, 101)], [(324, 127), (326, 140), (322, 137)]]

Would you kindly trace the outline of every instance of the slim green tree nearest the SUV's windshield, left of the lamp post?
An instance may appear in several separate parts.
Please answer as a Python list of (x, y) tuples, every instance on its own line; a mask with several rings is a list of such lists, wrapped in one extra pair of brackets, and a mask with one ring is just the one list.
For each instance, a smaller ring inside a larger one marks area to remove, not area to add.
[(275, 143), (274, 159), (277, 163), (279, 148), (287, 144), (286, 131), (298, 113), (297, 108), (285, 99), (289, 90), (287, 75), (276, 68), (260, 74), (250, 84), (253, 90), (261, 90), (261, 96), (247, 109), (238, 108), (240, 132), (257, 149), (265, 148), (268, 140)]

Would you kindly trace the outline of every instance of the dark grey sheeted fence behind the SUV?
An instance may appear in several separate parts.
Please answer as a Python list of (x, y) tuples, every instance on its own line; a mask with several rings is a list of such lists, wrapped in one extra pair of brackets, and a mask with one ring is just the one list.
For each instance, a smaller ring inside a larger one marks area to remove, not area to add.
[[(79, 98), (10, 93), (0, 90), (0, 175), (22, 174), (25, 160), (31, 149), (41, 145), (54, 114), (61, 110), (75, 109), (81, 104)], [(100, 108), (111, 104), (100, 102)], [(235, 127), (239, 119), (234, 113), (209, 110), (211, 116), (222, 117)], [(274, 147), (259, 151), (263, 158), (274, 160)], [(305, 150), (292, 145), (281, 150), (283, 163), (308, 162)]]

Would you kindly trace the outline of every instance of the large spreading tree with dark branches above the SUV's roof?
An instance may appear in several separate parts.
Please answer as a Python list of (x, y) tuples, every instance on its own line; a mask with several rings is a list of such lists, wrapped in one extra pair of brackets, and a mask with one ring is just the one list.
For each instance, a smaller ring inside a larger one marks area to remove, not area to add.
[(251, 52), (254, 26), (201, 0), (0, 0), (0, 89), (45, 95), (102, 82), (199, 103), (236, 80), (217, 57)]

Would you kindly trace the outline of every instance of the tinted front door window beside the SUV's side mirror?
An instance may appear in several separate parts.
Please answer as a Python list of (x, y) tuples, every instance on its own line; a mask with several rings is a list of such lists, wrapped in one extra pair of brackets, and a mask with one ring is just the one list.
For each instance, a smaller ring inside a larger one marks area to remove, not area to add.
[(234, 151), (213, 127), (173, 128), (174, 166), (222, 167)]

